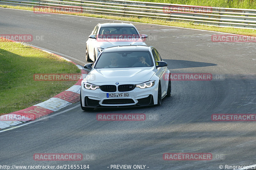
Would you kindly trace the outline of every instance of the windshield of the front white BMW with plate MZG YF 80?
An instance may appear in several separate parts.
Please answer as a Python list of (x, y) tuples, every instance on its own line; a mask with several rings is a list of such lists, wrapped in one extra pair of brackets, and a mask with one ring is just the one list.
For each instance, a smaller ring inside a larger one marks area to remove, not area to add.
[(152, 57), (149, 51), (119, 51), (102, 53), (95, 64), (95, 69), (152, 67)]

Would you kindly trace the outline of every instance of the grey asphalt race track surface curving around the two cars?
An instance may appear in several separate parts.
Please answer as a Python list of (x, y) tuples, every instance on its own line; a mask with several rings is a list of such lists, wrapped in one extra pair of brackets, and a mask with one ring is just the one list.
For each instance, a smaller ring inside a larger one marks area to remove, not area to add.
[[(0, 16), (0, 34), (31, 34), (34, 40), (29, 44), (81, 65), (86, 63), (85, 41), (94, 26), (113, 22), (3, 8)], [(211, 35), (220, 33), (133, 24), (149, 36), (146, 43), (159, 51), (172, 73), (211, 73), (224, 78), (172, 81), (172, 96), (164, 98), (159, 107), (94, 109), (89, 113), (75, 103), (51, 114), (61, 112), (59, 115), (0, 133), (1, 165), (217, 170), (220, 165), (225, 169), (225, 165), (256, 164), (256, 122), (211, 120), (212, 114), (256, 114), (256, 43), (212, 42)], [(72, 109), (66, 111), (68, 108)], [(97, 121), (99, 113), (144, 113), (146, 120)], [(180, 152), (212, 153), (213, 159), (163, 159), (164, 153)], [(35, 161), (35, 153), (82, 153), (83, 160)]]

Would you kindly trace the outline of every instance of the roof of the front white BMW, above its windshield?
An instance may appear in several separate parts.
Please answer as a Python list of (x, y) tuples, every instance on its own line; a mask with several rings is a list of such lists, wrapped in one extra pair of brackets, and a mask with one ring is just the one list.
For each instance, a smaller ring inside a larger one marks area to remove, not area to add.
[(150, 48), (152, 48), (152, 46), (147, 46), (147, 45), (114, 46), (114, 47), (105, 48), (104, 53), (115, 52), (115, 51), (149, 51)]

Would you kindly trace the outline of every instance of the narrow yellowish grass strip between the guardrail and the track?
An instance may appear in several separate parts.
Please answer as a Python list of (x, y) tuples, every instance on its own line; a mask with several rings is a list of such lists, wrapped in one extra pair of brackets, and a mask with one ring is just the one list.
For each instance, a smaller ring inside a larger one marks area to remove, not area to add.
[[(25, 7), (25, 6), (0, 5), (0, 7), (33, 11), (33, 7)], [(66, 14), (70, 14), (70, 13), (66, 13)], [(225, 27), (216, 27), (216, 26), (195, 25), (193, 23), (172, 22), (172, 21), (167, 21), (167, 20), (151, 19), (151, 18), (146, 18), (146, 17), (144, 17), (144, 18), (118, 17), (118, 16), (98, 15), (98, 14), (89, 14), (89, 13), (77, 13), (77, 14), (70, 14), (70, 15), (78, 15), (78, 16), (94, 17), (94, 18), (105, 18), (105, 19), (116, 19), (116, 20), (122, 20), (122, 21), (158, 24), (158, 25), (165, 25), (165, 26), (178, 26), (178, 27), (184, 27), (184, 28), (194, 28), (194, 29), (201, 29), (201, 30), (218, 31), (218, 32), (223, 32), (223, 33), (233, 33), (233, 34), (240, 34), (240, 35), (253, 36), (253, 37), (256, 36), (256, 30), (252, 30), (252, 29), (225, 28)]]

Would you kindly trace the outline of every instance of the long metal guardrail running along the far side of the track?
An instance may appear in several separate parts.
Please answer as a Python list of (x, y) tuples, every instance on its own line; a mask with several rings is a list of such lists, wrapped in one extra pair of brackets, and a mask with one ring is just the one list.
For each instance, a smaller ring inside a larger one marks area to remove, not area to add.
[[(256, 10), (165, 4), (128, 0), (0, 0), (0, 4), (33, 6), (35, 11), (59, 8), (83, 13), (148, 17), (194, 24), (256, 29)], [(44, 11), (47, 12), (47, 11)]]

